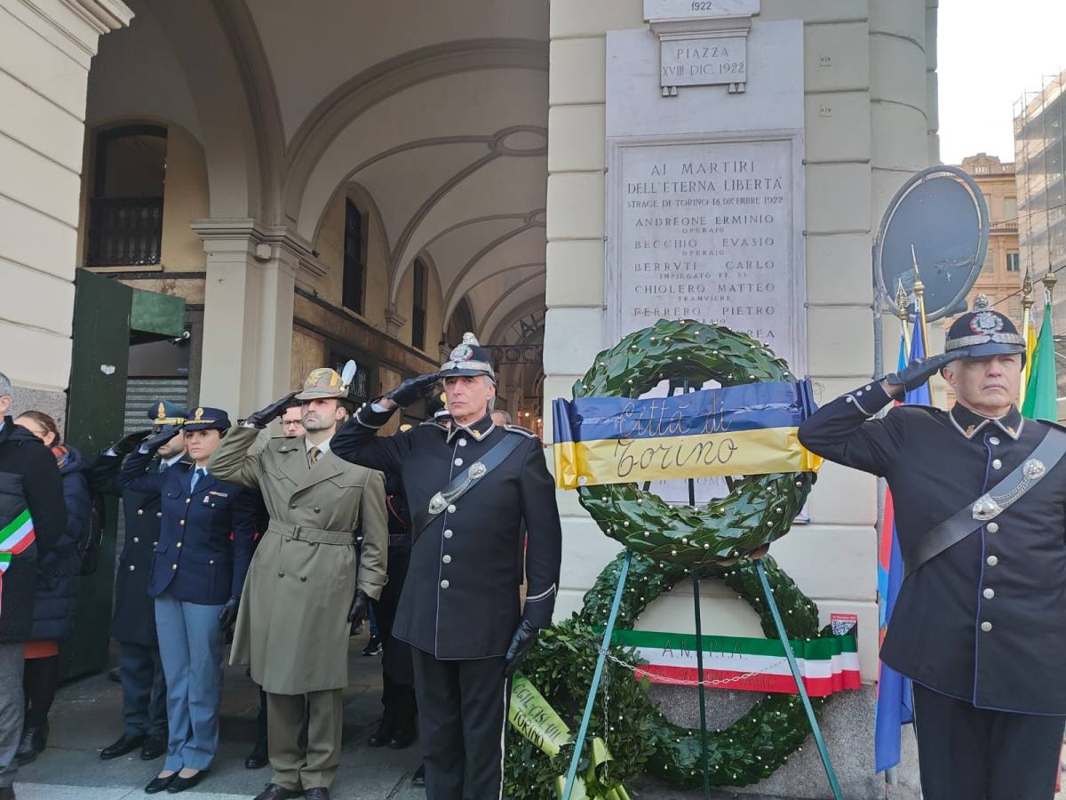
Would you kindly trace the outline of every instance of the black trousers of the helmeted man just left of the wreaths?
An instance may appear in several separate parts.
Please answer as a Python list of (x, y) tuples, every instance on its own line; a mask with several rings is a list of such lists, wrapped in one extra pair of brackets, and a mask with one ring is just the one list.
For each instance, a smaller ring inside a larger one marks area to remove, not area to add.
[(426, 800), (503, 797), (511, 682), (503, 656), (442, 660), (411, 647)]

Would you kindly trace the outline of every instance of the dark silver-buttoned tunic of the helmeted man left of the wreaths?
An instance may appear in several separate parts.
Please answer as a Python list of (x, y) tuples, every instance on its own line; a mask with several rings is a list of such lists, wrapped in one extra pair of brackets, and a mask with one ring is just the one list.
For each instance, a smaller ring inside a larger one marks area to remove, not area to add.
[(520, 618), (522, 525), (529, 531), (524, 617), (551, 624), (562, 531), (555, 484), (540, 439), (485, 416), (449, 432), (432, 421), (376, 436), (391, 412), (360, 409), (330, 442), (356, 464), (403, 479), (414, 518), (505, 436), (520, 437), (500, 466), (479, 480), (424, 530), (414, 531), (410, 566), (392, 636), (440, 659), (502, 656)]

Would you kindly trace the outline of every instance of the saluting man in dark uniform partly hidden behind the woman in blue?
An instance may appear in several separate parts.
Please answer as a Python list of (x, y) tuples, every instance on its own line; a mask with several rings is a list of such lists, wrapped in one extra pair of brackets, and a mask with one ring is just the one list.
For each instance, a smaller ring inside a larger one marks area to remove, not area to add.
[[(148, 412), (157, 432), (164, 426), (181, 425), (185, 416), (185, 410), (169, 400), (160, 400)], [(123, 437), (100, 453), (91, 470), (95, 492), (122, 497), (126, 519), (126, 538), (115, 572), (115, 610), (111, 623), (111, 635), (118, 642), (126, 730), (116, 741), (100, 751), (104, 761), (138, 748), (145, 761), (166, 752), (166, 682), (159, 660), (156, 601), (148, 596), (152, 553), (159, 542), (163, 512), (158, 492), (136, 492), (118, 482), (123, 459), (150, 434), (151, 431), (138, 431)], [(177, 431), (156, 451), (156, 458), (145, 471), (164, 473), (184, 454), (185, 436)]]

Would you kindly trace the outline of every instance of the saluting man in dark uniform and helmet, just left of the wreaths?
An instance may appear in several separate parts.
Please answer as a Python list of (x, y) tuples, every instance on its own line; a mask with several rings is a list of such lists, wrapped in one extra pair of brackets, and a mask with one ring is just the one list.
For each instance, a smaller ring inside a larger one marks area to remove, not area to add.
[[(375, 436), (398, 406), (440, 379), (451, 425), (427, 420)], [(413, 541), (392, 636), (413, 649), (429, 800), (502, 796), (507, 677), (551, 623), (559, 582), (559, 510), (540, 441), (497, 427), (495, 396), (488, 353), (466, 334), (439, 373), (408, 379), (365, 405), (333, 445), (343, 459), (403, 479)]]

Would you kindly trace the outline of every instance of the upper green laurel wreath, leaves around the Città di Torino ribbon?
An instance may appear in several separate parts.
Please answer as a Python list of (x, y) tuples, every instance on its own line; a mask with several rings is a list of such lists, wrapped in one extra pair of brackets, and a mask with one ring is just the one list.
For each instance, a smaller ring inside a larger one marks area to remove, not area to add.
[[(746, 334), (721, 325), (659, 320), (596, 356), (574, 397), (640, 397), (661, 381), (723, 386), (794, 380), (788, 364)], [(761, 555), (800, 513), (813, 473), (730, 479), (731, 492), (695, 509), (671, 506), (635, 483), (578, 489), (579, 501), (612, 539), (657, 560), (728, 565)]]

